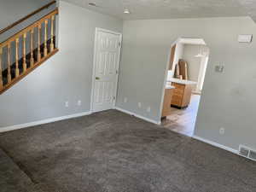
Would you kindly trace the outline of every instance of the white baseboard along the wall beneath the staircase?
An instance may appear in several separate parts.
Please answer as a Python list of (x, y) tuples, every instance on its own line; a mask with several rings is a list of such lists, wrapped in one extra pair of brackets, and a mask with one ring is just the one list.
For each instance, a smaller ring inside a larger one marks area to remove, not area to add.
[(23, 129), (23, 128), (26, 128), (26, 127), (48, 124), (48, 123), (52, 123), (52, 122), (60, 121), (60, 120), (65, 120), (65, 119), (73, 119), (73, 118), (77, 118), (77, 117), (81, 117), (81, 116), (85, 116), (85, 115), (89, 115), (89, 114), (91, 114), (91, 112), (75, 113), (75, 114), (71, 114), (71, 115), (67, 115), (67, 116), (61, 116), (61, 117), (57, 117), (57, 118), (38, 120), (38, 121), (34, 121), (34, 122), (31, 122), (31, 123), (26, 123), (26, 124), (21, 124), (21, 125), (12, 125), (12, 126), (7, 126), (7, 127), (0, 127), (0, 132), (19, 130), (19, 129)]

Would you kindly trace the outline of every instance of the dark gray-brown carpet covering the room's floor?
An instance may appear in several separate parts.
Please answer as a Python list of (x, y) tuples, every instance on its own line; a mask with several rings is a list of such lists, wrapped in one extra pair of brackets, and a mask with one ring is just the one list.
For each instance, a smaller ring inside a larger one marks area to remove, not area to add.
[(110, 110), (0, 134), (1, 192), (255, 192), (256, 164)]

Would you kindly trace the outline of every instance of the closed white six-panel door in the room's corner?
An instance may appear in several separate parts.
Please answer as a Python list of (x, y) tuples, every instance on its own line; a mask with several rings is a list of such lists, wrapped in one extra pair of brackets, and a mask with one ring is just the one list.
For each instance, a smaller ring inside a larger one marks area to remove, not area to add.
[(113, 108), (117, 92), (121, 34), (96, 29), (92, 112)]

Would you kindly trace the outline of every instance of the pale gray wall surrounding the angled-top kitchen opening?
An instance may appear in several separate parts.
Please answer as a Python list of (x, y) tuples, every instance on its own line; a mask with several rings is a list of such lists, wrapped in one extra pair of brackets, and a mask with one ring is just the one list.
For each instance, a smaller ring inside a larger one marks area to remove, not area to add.
[[(157, 30), (155, 30), (157, 29)], [(256, 35), (249, 17), (126, 20), (117, 105), (160, 119), (160, 102), (170, 44), (177, 38), (203, 38), (211, 50), (195, 135), (230, 148), (256, 148), (256, 41), (238, 44), (239, 34)], [(215, 65), (224, 64), (224, 73)], [(128, 102), (124, 103), (124, 97)], [(138, 108), (137, 102), (143, 107)], [(151, 112), (147, 113), (147, 107)], [(225, 128), (224, 136), (219, 128)]]

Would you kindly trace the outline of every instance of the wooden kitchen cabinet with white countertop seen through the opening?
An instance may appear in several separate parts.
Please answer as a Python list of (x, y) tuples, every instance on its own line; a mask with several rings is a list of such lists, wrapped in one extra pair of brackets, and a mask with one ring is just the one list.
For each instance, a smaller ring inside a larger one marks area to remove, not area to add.
[(177, 108), (186, 108), (189, 106), (193, 84), (172, 83), (175, 87), (172, 96), (172, 106)]

